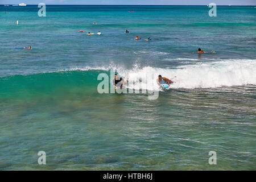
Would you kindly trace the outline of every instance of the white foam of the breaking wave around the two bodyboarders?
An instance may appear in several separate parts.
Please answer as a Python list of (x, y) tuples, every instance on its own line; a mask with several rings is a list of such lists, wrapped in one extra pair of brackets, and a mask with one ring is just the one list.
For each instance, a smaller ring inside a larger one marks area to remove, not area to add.
[[(135, 64), (133, 69), (124, 69), (110, 65), (109, 67), (85, 67), (72, 68), (72, 71), (81, 70), (103, 70), (110, 68), (116, 70), (122, 77), (134, 80), (135, 84), (131, 86), (134, 89), (158, 89), (156, 84), (158, 75), (167, 78), (174, 78), (175, 83), (171, 88), (218, 88), (221, 86), (241, 86), (256, 85), (256, 60), (222, 60), (212, 62), (201, 62), (193, 65), (183, 65), (177, 68), (152, 68), (143, 67)], [(147, 84), (147, 78), (151, 79), (153, 84)], [(141, 80), (141, 83), (140, 83)]]

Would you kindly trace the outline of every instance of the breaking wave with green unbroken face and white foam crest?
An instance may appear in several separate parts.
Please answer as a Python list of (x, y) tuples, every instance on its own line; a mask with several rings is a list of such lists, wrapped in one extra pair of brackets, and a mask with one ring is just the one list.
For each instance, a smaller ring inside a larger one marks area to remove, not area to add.
[[(24, 80), (19, 76), (7, 76), (0, 78), (0, 84), (13, 85), (13, 82), (20, 84), (20, 81), (36, 82), (40, 79), (48, 79), (52, 82), (61, 82), (61, 80), (68, 81), (66, 84), (74, 84), (82, 80), (83, 84), (88, 84), (92, 79), (94, 84), (98, 84), (97, 75), (99, 73), (106, 73), (109, 75), (110, 69), (113, 69), (118, 76), (129, 79), (129, 87), (131, 89), (148, 89), (158, 90), (159, 86), (156, 84), (158, 75), (166, 78), (173, 78), (174, 84), (172, 88), (220, 88), (221, 86), (242, 86), (242, 85), (256, 85), (256, 59), (242, 59), (242, 60), (217, 60), (199, 62), (193, 65), (181, 65), (175, 68), (153, 68), (141, 67), (134, 64), (132, 69), (125, 69), (117, 65), (109, 65), (102, 67), (75, 67), (71, 69), (62, 69), (47, 73), (38, 73), (35, 75), (27, 75), (24, 78), (31, 77), (29, 80)], [(67, 79), (68, 78), (68, 79)], [(22, 79), (22, 80), (20, 80)], [(73, 80), (76, 79), (76, 80)], [(46, 80), (42, 80), (45, 82)], [(9, 82), (9, 83), (8, 83)], [(45, 86), (48, 82), (45, 82)], [(82, 84), (82, 83), (81, 83)], [(110, 81), (110, 84), (112, 82)], [(26, 82), (23, 82), (23, 86)], [(0, 85), (1, 86), (1, 85)]]

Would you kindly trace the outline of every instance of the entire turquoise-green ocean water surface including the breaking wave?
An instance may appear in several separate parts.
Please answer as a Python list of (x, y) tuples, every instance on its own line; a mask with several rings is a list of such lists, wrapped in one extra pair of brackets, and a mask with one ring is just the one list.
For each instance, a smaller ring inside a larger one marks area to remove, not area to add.
[[(256, 169), (254, 6), (38, 10), (0, 6), (1, 170)], [(135, 90), (158, 90), (139, 83), (148, 75), (176, 78), (156, 100), (99, 94), (110, 69)]]

